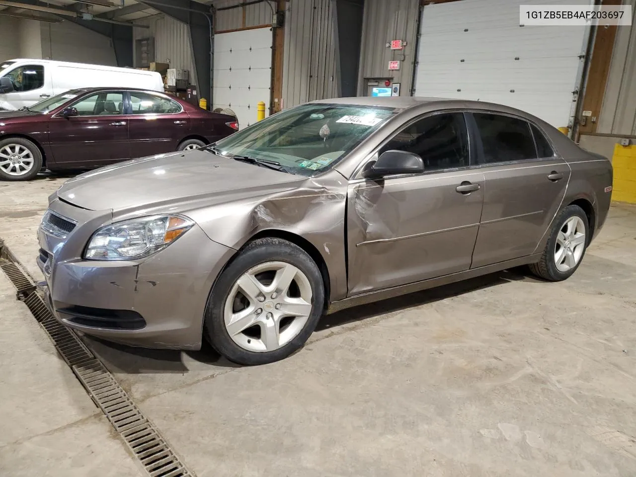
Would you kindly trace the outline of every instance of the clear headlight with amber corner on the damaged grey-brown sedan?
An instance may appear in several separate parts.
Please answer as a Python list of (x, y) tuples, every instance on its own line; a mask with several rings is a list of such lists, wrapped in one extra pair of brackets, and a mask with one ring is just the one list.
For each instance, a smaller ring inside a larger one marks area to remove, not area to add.
[(144, 258), (167, 247), (193, 225), (190, 219), (176, 215), (142, 217), (107, 225), (93, 233), (84, 258)]

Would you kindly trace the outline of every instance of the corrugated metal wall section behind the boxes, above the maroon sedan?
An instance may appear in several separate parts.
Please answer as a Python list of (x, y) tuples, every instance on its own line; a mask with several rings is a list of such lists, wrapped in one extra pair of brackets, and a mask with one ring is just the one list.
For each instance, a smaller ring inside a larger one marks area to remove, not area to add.
[[(171, 68), (187, 69), (190, 71), (191, 80), (197, 78), (188, 25), (165, 15), (142, 18), (135, 20), (135, 23), (149, 25), (150, 29), (148, 30), (134, 28), (132, 32), (134, 40), (155, 38), (155, 61), (169, 63)], [(133, 48), (135, 46), (135, 41), (133, 41)]]

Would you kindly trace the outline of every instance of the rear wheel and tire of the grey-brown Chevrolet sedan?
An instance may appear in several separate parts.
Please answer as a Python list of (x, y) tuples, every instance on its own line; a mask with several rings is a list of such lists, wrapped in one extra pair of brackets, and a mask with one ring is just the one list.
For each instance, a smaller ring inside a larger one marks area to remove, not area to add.
[(589, 230), (588, 218), (581, 207), (565, 207), (555, 219), (541, 259), (530, 265), (530, 272), (551, 282), (569, 278), (581, 265), (590, 242)]

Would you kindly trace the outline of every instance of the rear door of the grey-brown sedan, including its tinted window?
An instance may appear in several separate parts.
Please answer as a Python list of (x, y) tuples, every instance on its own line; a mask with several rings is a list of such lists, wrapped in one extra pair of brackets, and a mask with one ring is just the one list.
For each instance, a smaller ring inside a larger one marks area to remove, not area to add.
[(486, 183), (476, 268), (535, 251), (565, 197), (570, 167), (536, 125), (504, 114), (469, 118)]

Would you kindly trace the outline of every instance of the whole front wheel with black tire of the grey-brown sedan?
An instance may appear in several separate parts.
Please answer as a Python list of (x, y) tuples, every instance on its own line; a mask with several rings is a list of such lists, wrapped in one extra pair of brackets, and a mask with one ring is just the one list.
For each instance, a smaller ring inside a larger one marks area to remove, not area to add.
[(273, 363), (303, 347), (324, 300), (322, 275), (307, 252), (287, 240), (254, 240), (214, 284), (204, 333), (234, 363)]

